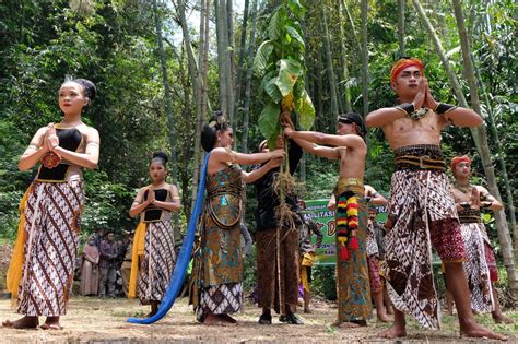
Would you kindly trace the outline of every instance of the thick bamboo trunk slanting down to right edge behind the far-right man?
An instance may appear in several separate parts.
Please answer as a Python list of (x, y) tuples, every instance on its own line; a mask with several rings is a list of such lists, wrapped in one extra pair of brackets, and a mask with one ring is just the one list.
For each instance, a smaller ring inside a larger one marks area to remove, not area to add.
[[(480, 106), (479, 99), (479, 90), (476, 85), (476, 79), (473, 68), (473, 62), (471, 60), (471, 47), (469, 44), (468, 34), (466, 32), (464, 17), (462, 13), (462, 5), (460, 0), (454, 1), (455, 19), (457, 20), (457, 28), (460, 36), (460, 46), (462, 50), (462, 61), (464, 66), (464, 74), (468, 79), (468, 84), (470, 86), (470, 98), (473, 110), (482, 116), (482, 108)], [(494, 167), (491, 162), (490, 146), (487, 143), (487, 132), (485, 127), (479, 128), (476, 130), (478, 138), (481, 142), (481, 157), (484, 166), (485, 175), (487, 177), (487, 186), (491, 194), (493, 194), (497, 200), (502, 200), (498, 186), (496, 183), (496, 177), (494, 173)], [(501, 242), (502, 254), (504, 256), (504, 264), (507, 270), (507, 277), (509, 281), (510, 288), (518, 293), (518, 280), (516, 276), (515, 270), (515, 260), (513, 254), (513, 242), (509, 236), (509, 228), (507, 225), (507, 220), (505, 217), (505, 212), (503, 210), (494, 212), (496, 226), (498, 228), (498, 240)]]

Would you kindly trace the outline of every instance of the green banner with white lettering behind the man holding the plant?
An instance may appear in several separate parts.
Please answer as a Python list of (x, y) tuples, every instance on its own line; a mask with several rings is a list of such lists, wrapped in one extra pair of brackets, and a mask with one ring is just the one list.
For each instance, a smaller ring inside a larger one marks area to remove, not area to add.
[[(315, 265), (334, 265), (337, 262), (334, 233), (334, 211), (328, 210), (329, 200), (305, 201), (306, 209), (303, 211), (305, 218), (311, 218), (323, 234), (322, 246), (315, 252)], [(377, 222), (384, 223), (387, 220), (387, 210), (384, 206), (376, 206), (378, 214)], [(311, 242), (316, 242), (317, 237), (311, 237)]]

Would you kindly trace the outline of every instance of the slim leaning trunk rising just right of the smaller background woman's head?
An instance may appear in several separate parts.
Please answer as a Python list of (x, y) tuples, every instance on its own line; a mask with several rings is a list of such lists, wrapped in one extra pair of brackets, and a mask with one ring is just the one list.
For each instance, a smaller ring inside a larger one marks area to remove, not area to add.
[[(156, 0), (153, 0), (153, 12), (155, 19), (155, 29), (156, 29), (156, 40), (158, 43), (158, 55), (160, 55), (160, 63), (162, 69), (162, 82), (164, 84), (164, 102), (165, 102), (165, 114), (167, 116), (167, 127), (169, 129), (167, 139), (169, 141), (169, 149), (170, 149), (170, 165), (172, 165), (172, 177), (173, 183), (178, 185), (178, 164), (176, 157), (176, 132), (175, 132), (175, 119), (173, 115), (173, 105), (170, 103), (170, 87), (169, 87), (169, 79), (167, 76), (167, 60), (165, 58), (165, 50), (164, 50), (164, 43), (162, 40), (162, 22), (158, 15), (158, 5), (156, 4)], [(178, 213), (174, 214), (175, 218), (175, 238), (180, 238), (180, 233), (178, 230)]]

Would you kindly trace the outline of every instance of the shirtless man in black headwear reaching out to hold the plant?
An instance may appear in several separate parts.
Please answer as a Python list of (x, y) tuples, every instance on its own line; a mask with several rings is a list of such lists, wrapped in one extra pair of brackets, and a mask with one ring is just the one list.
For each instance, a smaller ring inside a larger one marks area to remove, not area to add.
[(284, 120), (283, 126), (284, 135), (293, 139), (304, 151), (330, 159), (340, 159), (340, 179), (334, 191), (338, 204), (338, 324), (366, 325), (372, 304), (366, 254), (367, 209), (363, 185), (367, 155), (367, 145), (363, 138), (367, 130), (363, 119), (358, 114), (340, 115), (335, 135), (294, 131), (289, 120)]

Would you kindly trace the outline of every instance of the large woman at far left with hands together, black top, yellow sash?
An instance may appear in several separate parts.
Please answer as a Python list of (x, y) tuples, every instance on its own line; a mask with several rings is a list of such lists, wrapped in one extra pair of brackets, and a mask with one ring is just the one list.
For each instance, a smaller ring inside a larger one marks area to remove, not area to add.
[(59, 123), (39, 128), (20, 157), (20, 170), (38, 165), (20, 204), (16, 244), (8, 271), (8, 289), (17, 297), (24, 317), (2, 324), (15, 329), (61, 329), (72, 293), (73, 268), (84, 205), (83, 168), (96, 168), (99, 134), (83, 122), (83, 109), (93, 100), (93, 82), (74, 79), (61, 84)]

